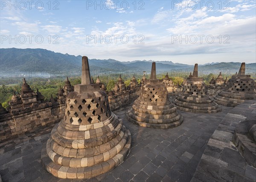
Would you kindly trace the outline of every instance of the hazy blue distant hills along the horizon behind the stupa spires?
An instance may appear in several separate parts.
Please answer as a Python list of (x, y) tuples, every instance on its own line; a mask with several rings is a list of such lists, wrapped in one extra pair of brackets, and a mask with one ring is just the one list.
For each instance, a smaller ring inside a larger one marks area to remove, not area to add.
[[(146, 71), (150, 73), (151, 62), (153, 60), (135, 60), (132, 62), (120, 62), (118, 60), (97, 60), (90, 59), (90, 70), (95, 74), (104, 73), (104, 71)], [(224, 74), (234, 74), (239, 71), (241, 63), (207, 63), (199, 65), (198, 69), (203, 73), (217, 74), (222, 71)], [(0, 48), (0, 67), (1, 69), (15, 70), (39, 70), (52, 71), (58, 70), (60, 75), (80, 75), (81, 74), (81, 56), (70, 54), (61, 54), (40, 48)], [(191, 71), (194, 65), (173, 63), (172, 61), (156, 61), (157, 73), (171, 73), (182, 71)], [(256, 73), (256, 63), (246, 64), (246, 73)]]

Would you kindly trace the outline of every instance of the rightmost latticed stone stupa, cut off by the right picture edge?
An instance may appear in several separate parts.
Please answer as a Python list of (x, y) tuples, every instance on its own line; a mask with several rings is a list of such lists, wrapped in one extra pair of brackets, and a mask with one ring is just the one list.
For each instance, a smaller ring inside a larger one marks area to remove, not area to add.
[(255, 100), (255, 81), (245, 74), (245, 63), (241, 63), (239, 73), (232, 75), (226, 88), (215, 97), (215, 102), (221, 105), (236, 107), (244, 100)]

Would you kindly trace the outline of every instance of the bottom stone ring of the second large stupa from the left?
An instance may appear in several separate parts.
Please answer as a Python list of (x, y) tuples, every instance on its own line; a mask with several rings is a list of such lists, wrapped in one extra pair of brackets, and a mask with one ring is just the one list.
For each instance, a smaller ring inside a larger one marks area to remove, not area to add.
[(158, 129), (174, 128), (174, 127), (181, 125), (181, 123), (183, 122), (183, 116), (180, 116), (180, 119), (175, 122), (170, 122), (170, 123), (165, 123), (165, 124), (140, 122), (140, 121), (137, 121), (136, 119), (131, 118), (129, 114), (132, 114), (130, 110), (126, 113), (126, 117), (127, 117), (128, 121), (130, 121), (136, 125), (140, 125), (140, 126), (148, 127), (148, 128), (158, 128)]

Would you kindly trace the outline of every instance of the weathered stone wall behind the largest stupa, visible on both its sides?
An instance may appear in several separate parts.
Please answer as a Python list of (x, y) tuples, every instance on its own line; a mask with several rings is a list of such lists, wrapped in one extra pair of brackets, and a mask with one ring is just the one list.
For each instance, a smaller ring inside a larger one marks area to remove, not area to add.
[[(140, 87), (136, 87), (108, 96), (111, 111), (134, 102), (139, 96), (139, 91)], [(0, 113), (0, 143), (3, 144), (10, 138), (13, 139), (60, 122), (64, 118), (67, 95), (67, 93), (65, 95), (61, 93), (58, 93), (58, 99), (51, 98), (50, 102), (34, 103), (26, 107), (21, 100), (11, 102), (12, 107), (8, 109), (8, 112)]]

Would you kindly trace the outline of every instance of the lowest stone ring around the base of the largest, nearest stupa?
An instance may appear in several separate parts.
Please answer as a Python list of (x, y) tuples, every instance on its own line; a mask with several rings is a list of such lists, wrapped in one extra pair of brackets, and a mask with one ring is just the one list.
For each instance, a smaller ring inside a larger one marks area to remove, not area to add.
[[(124, 129), (126, 130), (125, 126), (122, 126), (122, 127), (124, 127)], [(47, 142), (45, 142), (41, 151), (42, 163), (44, 165), (44, 168), (49, 173), (51, 173), (53, 176), (58, 178), (89, 179), (91, 177), (98, 176), (100, 174), (111, 171), (113, 168), (121, 164), (125, 159), (125, 157), (129, 154), (129, 151), (131, 149), (131, 133), (129, 130), (127, 130), (127, 133), (128, 133), (128, 139), (124, 148), (118, 154), (116, 154), (116, 156), (114, 156), (113, 158), (108, 159), (107, 161), (101, 162), (99, 164), (96, 164), (90, 167), (81, 167), (81, 168), (71, 168), (71, 167), (65, 167), (63, 165), (58, 165), (54, 163), (47, 154), (47, 151), (46, 151)]]

